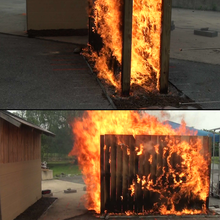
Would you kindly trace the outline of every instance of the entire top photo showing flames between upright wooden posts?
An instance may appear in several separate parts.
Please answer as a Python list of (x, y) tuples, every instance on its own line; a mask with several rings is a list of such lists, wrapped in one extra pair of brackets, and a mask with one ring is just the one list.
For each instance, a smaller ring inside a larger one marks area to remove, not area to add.
[(219, 0), (0, 0), (0, 109), (220, 109)]

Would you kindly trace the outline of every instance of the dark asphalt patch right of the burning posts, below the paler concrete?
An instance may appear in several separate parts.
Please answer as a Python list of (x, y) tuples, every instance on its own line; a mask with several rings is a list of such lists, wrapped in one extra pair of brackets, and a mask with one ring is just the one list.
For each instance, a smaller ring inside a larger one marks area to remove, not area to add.
[(220, 65), (170, 59), (169, 80), (202, 109), (220, 109)]

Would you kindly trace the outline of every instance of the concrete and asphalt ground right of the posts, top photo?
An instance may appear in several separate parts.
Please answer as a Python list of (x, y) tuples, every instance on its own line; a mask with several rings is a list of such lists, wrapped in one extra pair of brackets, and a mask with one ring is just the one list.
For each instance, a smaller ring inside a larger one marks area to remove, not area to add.
[[(220, 109), (220, 12), (173, 9), (169, 80), (203, 109)], [(194, 35), (209, 27), (215, 38)]]

